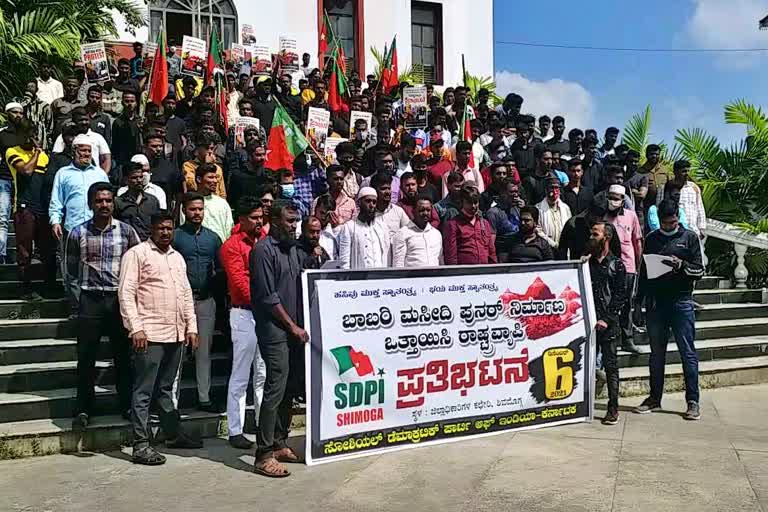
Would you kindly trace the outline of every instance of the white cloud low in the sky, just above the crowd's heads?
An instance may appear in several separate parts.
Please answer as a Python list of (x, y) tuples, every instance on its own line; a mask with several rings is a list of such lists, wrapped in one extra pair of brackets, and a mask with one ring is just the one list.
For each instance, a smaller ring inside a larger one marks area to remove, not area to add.
[(592, 94), (577, 82), (559, 78), (536, 82), (519, 73), (496, 73), (496, 94), (505, 97), (515, 92), (523, 97), (523, 112), (536, 116), (565, 117), (566, 126), (589, 128), (594, 122), (595, 101)]

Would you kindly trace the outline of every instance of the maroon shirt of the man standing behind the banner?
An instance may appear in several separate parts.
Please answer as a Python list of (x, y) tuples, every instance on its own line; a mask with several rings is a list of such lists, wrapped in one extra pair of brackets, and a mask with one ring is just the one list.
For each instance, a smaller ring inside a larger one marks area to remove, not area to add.
[(498, 263), (496, 233), (482, 217), (472, 224), (462, 212), (445, 223), (443, 257), (446, 265), (487, 265)]

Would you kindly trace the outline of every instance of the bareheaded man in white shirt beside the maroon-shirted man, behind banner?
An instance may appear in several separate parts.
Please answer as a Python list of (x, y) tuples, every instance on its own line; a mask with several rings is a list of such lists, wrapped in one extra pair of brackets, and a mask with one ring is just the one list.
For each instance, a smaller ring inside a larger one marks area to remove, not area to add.
[(419, 196), (413, 220), (400, 228), (392, 240), (392, 266), (437, 267), (443, 262), (443, 236), (429, 223), (432, 200)]

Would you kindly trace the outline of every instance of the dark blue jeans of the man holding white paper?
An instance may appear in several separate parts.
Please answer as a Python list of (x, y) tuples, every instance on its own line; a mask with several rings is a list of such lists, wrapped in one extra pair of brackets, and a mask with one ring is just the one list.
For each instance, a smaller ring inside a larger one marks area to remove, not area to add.
[(698, 403), (699, 357), (694, 346), (696, 325), (693, 299), (690, 296), (672, 301), (650, 299), (647, 329), (651, 342), (649, 361), (651, 399), (661, 403), (661, 396), (664, 393), (664, 365), (667, 358), (667, 339), (671, 328), (677, 343), (677, 350), (680, 352), (680, 360), (683, 363), (685, 400)]

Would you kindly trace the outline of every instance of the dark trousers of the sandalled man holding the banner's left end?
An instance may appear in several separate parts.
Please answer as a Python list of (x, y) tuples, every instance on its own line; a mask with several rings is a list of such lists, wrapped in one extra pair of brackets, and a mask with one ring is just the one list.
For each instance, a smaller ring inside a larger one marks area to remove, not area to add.
[(259, 411), (256, 462), (272, 457), (272, 452), (285, 448), (288, 440), (293, 407), (293, 396), (288, 392), (291, 360), (288, 343), (262, 343), (259, 340), (261, 358), (267, 367), (267, 380), (264, 383), (264, 397)]

